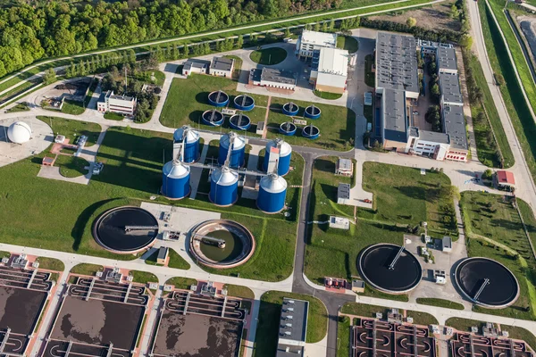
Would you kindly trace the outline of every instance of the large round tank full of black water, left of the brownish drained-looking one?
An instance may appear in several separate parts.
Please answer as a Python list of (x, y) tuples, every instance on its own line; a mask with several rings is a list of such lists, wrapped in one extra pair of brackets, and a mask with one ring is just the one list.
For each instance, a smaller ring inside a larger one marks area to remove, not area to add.
[(96, 243), (113, 253), (138, 253), (155, 243), (158, 220), (135, 206), (122, 206), (101, 214), (93, 224)]

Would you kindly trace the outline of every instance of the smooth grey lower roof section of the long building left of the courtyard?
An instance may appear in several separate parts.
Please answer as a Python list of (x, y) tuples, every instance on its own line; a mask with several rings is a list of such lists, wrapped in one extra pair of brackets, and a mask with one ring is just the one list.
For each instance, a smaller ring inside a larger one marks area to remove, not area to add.
[(406, 143), (406, 95), (403, 90), (385, 89), (383, 96), (383, 138)]

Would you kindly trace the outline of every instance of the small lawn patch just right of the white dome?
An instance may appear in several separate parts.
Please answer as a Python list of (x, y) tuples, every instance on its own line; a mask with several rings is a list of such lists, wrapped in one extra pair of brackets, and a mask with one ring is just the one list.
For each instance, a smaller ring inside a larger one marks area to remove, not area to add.
[(85, 135), (88, 137), (88, 141), (86, 141), (85, 145), (86, 147), (96, 143), (102, 130), (100, 125), (88, 121), (44, 116), (38, 116), (38, 120), (41, 120), (50, 126), (54, 135), (60, 134), (66, 139), (69, 139), (70, 144), (74, 144), (76, 137)]

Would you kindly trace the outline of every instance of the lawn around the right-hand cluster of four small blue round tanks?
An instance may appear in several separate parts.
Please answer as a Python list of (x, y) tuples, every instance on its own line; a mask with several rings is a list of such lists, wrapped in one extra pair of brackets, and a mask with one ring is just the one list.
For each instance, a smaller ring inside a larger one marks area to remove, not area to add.
[[(266, 137), (281, 137), (279, 133), (281, 123), (292, 120), (281, 112), (282, 106), (287, 102), (289, 102), (288, 99), (272, 97)], [(304, 119), (303, 115), (306, 107), (313, 104), (302, 101), (292, 102), (299, 106), (297, 119)], [(352, 149), (356, 136), (356, 113), (344, 106), (330, 104), (314, 104), (314, 106), (322, 111), (322, 115), (317, 120), (307, 120), (307, 124), (312, 122), (315, 127), (320, 129), (320, 137), (315, 140), (302, 137), (301, 129), (303, 126), (297, 125), (296, 135), (285, 137), (285, 140), (290, 145), (319, 147), (338, 151)]]

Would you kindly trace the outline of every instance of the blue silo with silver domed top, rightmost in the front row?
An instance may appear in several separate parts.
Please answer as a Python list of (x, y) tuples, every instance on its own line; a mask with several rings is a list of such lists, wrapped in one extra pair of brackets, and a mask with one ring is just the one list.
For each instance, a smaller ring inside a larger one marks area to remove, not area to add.
[(287, 181), (277, 174), (269, 174), (261, 179), (257, 207), (265, 213), (281, 212), (285, 208)]

